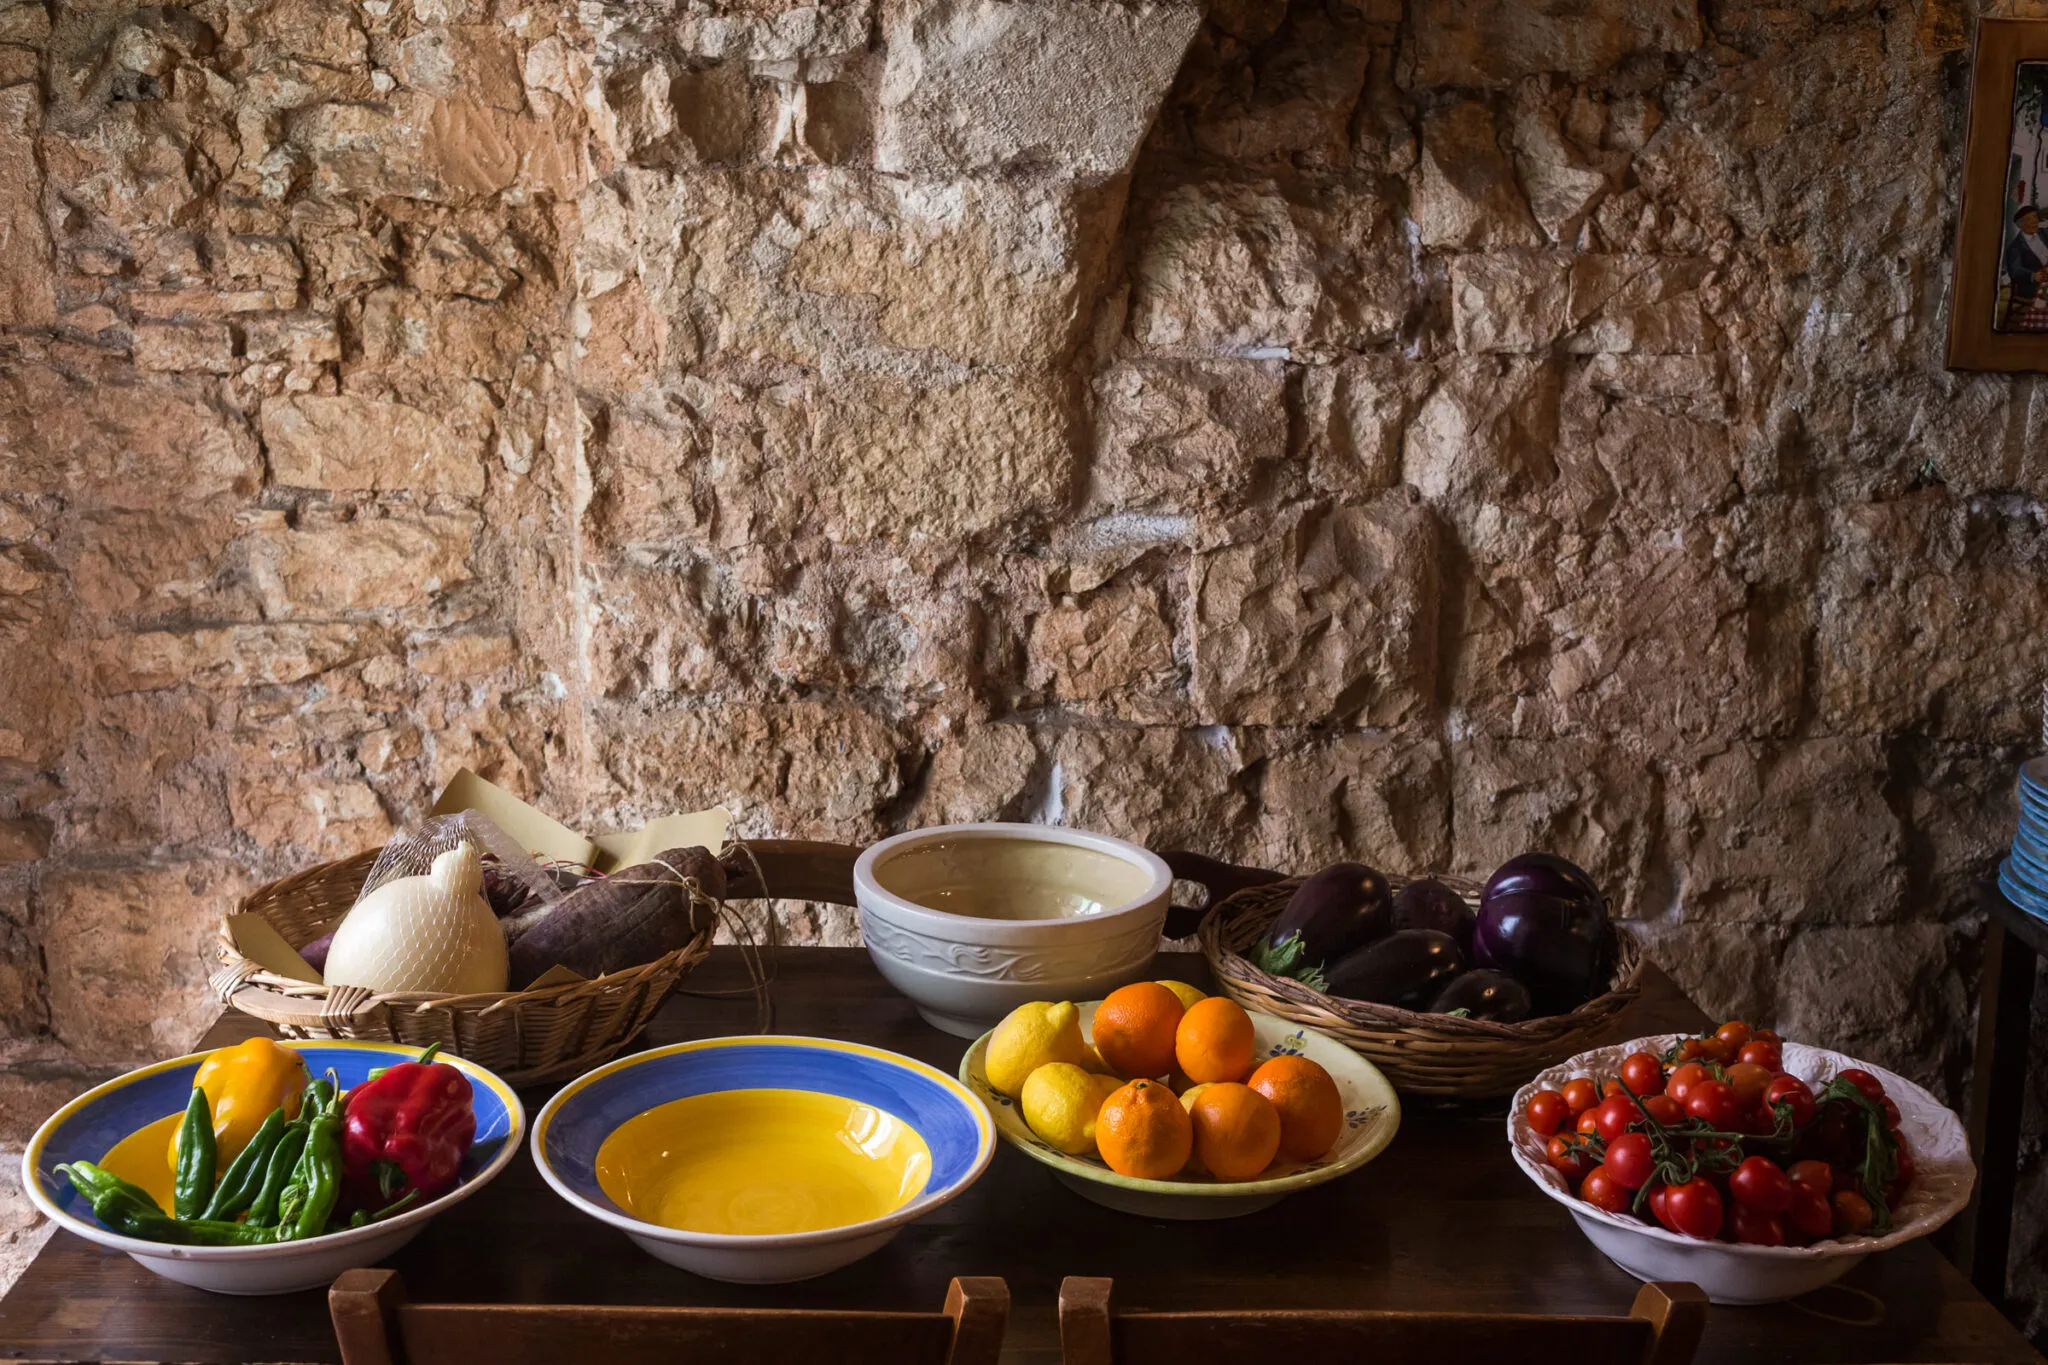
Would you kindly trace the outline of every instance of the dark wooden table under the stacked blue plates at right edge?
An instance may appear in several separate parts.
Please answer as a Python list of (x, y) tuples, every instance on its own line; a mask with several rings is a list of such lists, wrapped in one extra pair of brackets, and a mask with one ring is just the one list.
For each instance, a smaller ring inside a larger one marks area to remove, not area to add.
[(2048, 956), (2048, 921), (2007, 900), (1997, 880), (1980, 882), (1976, 900), (1985, 907), (1985, 984), (1976, 999), (1976, 1066), (1970, 1068), (1976, 1197), (1956, 1220), (1956, 1246), (1964, 1275), (1978, 1293), (1999, 1304), (2005, 1300), (2005, 1261), (2013, 1240), (2034, 970)]

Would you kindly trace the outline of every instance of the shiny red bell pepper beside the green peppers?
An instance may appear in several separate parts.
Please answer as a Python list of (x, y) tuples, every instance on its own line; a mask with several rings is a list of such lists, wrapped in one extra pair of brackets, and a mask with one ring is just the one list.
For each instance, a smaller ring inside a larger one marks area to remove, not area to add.
[(379, 1209), (408, 1191), (420, 1201), (455, 1187), (477, 1136), (469, 1076), (436, 1062), (399, 1062), (348, 1091), (342, 1111), (342, 1181), (354, 1207)]

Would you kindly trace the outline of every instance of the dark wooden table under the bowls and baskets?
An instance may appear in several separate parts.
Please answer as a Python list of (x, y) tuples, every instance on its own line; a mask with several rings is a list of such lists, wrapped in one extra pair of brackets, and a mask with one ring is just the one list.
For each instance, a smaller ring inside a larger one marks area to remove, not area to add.
[[(1161, 976), (1206, 982), (1200, 958)], [(743, 984), (721, 950), (690, 986)], [(965, 1046), (928, 1027), (860, 950), (784, 950), (776, 1027), (854, 1038), (954, 1070)], [(649, 1044), (752, 1031), (745, 997), (678, 995)], [(1700, 1011), (1653, 972), (1622, 1033), (1690, 1029)], [(256, 1031), (223, 1017), (219, 1046)], [(537, 1111), (543, 1093), (528, 1095)], [(475, 1199), (442, 1214), (391, 1265), (416, 1300), (938, 1308), (952, 1275), (1010, 1281), (1006, 1359), (1059, 1359), (1055, 1297), (1065, 1275), (1110, 1275), (1130, 1308), (1462, 1308), (1624, 1314), (1636, 1283), (1536, 1193), (1507, 1154), (1501, 1111), (1411, 1103), (1370, 1166), (1249, 1218), (1163, 1224), (1112, 1214), (1014, 1150), (963, 1197), (874, 1257), (803, 1285), (694, 1279), (557, 1199), (526, 1154)], [(334, 1361), (319, 1291), (225, 1300), (150, 1275), (57, 1232), (0, 1300), (0, 1359)], [(1985, 1361), (2040, 1357), (1929, 1244), (1866, 1261), (1800, 1304), (1714, 1308), (1700, 1361)]]

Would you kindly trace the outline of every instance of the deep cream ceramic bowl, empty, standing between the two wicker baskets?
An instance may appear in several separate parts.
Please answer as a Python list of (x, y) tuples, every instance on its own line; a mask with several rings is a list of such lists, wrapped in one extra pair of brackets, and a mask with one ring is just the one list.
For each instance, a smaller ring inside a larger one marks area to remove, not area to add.
[(956, 1038), (981, 1038), (1028, 1001), (1143, 980), (1171, 888), (1155, 853), (1053, 825), (913, 829), (854, 864), (868, 958)]

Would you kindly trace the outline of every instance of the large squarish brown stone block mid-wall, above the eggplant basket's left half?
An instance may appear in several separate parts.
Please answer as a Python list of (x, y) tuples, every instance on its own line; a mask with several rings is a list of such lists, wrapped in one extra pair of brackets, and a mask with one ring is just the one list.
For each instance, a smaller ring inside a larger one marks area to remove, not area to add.
[(1399, 724), (1436, 688), (1440, 544), (1411, 493), (1309, 508), (1194, 569), (1204, 724)]

